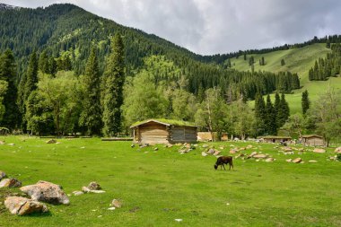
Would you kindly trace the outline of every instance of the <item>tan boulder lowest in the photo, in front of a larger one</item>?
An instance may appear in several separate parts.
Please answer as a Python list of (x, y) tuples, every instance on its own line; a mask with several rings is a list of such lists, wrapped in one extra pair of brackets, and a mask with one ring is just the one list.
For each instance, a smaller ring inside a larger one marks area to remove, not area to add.
[(4, 200), (4, 206), (11, 214), (25, 215), (31, 213), (48, 212), (48, 206), (29, 198), (10, 196)]

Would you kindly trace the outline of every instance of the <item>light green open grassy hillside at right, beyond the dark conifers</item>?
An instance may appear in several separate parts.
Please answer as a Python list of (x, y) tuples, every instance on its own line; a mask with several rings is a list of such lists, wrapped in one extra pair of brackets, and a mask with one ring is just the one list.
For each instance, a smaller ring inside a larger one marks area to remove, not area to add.
[[(264, 70), (270, 72), (291, 71), (299, 74), (301, 78), (302, 89), (294, 90), (292, 94), (286, 94), (286, 100), (289, 103), (291, 113), (302, 112), (301, 99), (302, 92), (308, 90), (311, 103), (318, 99), (319, 94), (325, 92), (328, 85), (341, 92), (341, 77), (331, 77), (328, 81), (309, 81), (308, 72), (319, 57), (326, 57), (330, 49), (323, 43), (313, 44), (304, 48), (293, 48), (288, 50), (278, 50), (262, 55), (249, 55), (247, 57), (255, 58), (255, 70)], [(266, 65), (259, 65), (259, 59), (265, 57)], [(249, 59), (249, 58), (248, 58)], [(243, 57), (232, 58), (232, 67), (240, 71), (250, 70), (249, 60)], [(284, 59), (285, 65), (281, 65), (281, 59)], [(275, 94), (271, 95), (275, 100)], [(254, 101), (250, 102), (254, 105)]]

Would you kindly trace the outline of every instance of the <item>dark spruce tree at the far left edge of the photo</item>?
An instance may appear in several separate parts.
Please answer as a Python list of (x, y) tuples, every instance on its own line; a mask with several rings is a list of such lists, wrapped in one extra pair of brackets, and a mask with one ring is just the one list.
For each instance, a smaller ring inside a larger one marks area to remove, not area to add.
[(21, 115), (16, 103), (17, 88), (15, 86), (16, 67), (12, 50), (7, 49), (0, 59), (0, 80), (8, 83), (7, 92), (4, 94), (4, 118), (0, 125), (13, 129), (19, 126)]

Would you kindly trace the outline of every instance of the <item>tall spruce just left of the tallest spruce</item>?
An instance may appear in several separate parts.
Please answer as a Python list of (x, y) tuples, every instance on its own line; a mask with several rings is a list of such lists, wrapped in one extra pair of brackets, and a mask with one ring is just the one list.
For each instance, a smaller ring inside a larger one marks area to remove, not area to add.
[(100, 70), (96, 48), (92, 48), (83, 77), (84, 97), (80, 125), (87, 128), (88, 135), (101, 134), (101, 88)]

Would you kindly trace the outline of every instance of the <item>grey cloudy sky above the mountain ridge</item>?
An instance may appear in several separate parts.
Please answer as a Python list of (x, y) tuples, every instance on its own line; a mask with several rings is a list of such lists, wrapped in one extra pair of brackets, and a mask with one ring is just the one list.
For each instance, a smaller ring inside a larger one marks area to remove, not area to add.
[(66, 2), (205, 55), (341, 34), (340, 0), (0, 0)]

